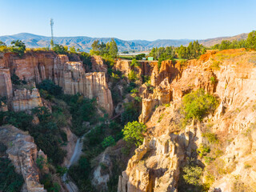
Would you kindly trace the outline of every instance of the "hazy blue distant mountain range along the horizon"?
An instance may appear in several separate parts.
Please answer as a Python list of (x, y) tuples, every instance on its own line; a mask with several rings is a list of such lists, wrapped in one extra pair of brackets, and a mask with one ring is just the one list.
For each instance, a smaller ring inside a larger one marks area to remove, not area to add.
[[(222, 37), (222, 38), (209, 38), (205, 40), (198, 40), (204, 46), (213, 46), (214, 44), (222, 42), (222, 40), (233, 41), (235, 39), (245, 39), (248, 34), (238, 34), (233, 37)], [(10, 42), (14, 40), (22, 40), (26, 43), (27, 47), (38, 48), (38, 47), (48, 47), (50, 46), (50, 37), (36, 35), (36, 34), (14, 34), (0, 36), (0, 41), (6, 42), (7, 45), (10, 45)], [(61, 44), (62, 46), (75, 46), (80, 50), (89, 52), (91, 49), (91, 44), (95, 41), (99, 42), (110, 42), (111, 38), (90, 38), (86, 36), (78, 37), (54, 37), (54, 43)], [(125, 41), (122, 39), (114, 38), (117, 42), (118, 50), (150, 50), (153, 47), (161, 46), (187, 46), (189, 42), (194, 41), (194, 39), (158, 39), (155, 41), (146, 41), (146, 40), (131, 40)]]

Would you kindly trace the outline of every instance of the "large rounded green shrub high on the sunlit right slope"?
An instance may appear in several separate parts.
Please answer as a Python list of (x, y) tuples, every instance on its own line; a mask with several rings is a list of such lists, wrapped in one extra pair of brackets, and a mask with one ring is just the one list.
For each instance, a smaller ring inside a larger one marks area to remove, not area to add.
[(204, 115), (214, 111), (218, 105), (217, 99), (204, 90), (196, 90), (186, 94), (182, 99), (182, 113), (185, 114), (185, 121), (190, 119), (202, 120)]

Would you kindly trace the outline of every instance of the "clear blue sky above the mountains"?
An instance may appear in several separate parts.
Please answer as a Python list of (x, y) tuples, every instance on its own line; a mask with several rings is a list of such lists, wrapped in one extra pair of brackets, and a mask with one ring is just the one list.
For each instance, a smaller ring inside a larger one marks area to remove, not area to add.
[(0, 0), (0, 35), (204, 39), (256, 29), (255, 0)]

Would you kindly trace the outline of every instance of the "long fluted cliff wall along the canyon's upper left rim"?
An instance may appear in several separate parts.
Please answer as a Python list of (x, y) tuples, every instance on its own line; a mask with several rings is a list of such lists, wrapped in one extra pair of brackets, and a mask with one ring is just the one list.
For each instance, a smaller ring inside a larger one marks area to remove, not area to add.
[[(92, 57), (92, 63), (93, 70), (102, 72), (86, 73), (81, 61), (70, 62), (67, 55), (57, 55), (51, 51), (29, 52), (22, 58), (16, 54), (3, 54), (0, 58), (0, 67), (5, 69), (0, 69), (0, 95), (12, 97), (11, 74), (15, 73), (20, 79), (31, 83), (39, 83), (47, 78), (62, 86), (66, 94), (80, 93), (88, 98), (97, 98), (99, 106), (111, 116), (113, 102), (106, 83), (106, 65), (98, 56)], [(16, 111), (38, 106), (39, 101), (34, 101), (35, 90), (32, 90), (30, 95), (28, 90), (16, 90), (14, 97), (16, 98), (13, 106)], [(19, 102), (18, 97), (22, 98)], [(29, 98), (33, 98), (33, 102), (28, 102)]]

